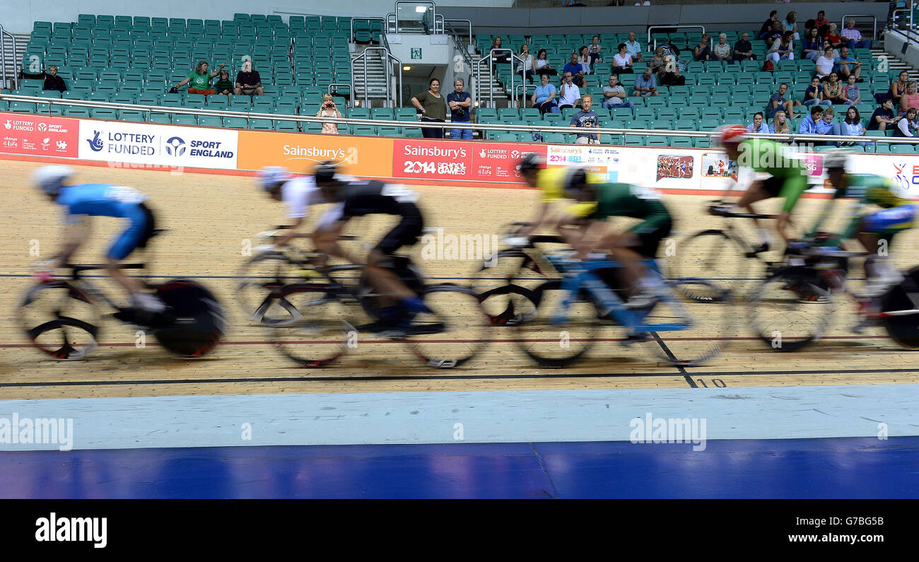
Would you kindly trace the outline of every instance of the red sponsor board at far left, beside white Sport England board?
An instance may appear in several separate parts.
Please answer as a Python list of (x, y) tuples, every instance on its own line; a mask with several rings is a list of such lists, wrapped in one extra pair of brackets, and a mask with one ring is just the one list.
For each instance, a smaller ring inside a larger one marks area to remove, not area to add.
[(76, 158), (79, 120), (0, 113), (0, 152)]

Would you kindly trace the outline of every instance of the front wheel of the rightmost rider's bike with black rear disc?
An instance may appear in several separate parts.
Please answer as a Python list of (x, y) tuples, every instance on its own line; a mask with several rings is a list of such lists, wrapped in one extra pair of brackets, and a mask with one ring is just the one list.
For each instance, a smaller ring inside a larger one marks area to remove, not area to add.
[(776, 351), (797, 351), (830, 326), (834, 295), (812, 269), (779, 270), (747, 298), (750, 327)]

